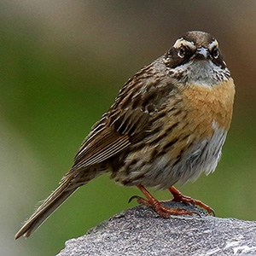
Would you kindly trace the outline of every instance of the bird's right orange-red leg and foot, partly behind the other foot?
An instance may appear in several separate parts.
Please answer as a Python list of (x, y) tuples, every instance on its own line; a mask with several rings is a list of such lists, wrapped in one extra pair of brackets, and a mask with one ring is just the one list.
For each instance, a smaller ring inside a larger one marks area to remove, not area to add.
[(189, 196), (183, 195), (177, 189), (175, 189), (173, 186), (171, 188), (169, 188), (169, 191), (173, 195), (172, 201), (179, 201), (179, 202), (183, 202), (185, 204), (192, 204), (194, 206), (201, 207), (201, 208), (207, 210), (207, 212), (209, 214), (212, 214), (213, 216), (215, 216), (215, 212), (213, 211), (213, 209), (211, 207), (208, 207), (205, 203), (195, 200)]

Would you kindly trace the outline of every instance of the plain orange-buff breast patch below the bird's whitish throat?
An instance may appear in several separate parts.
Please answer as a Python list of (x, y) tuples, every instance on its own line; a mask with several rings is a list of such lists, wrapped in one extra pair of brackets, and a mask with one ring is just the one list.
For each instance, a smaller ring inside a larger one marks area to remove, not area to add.
[(200, 84), (187, 84), (183, 90), (183, 103), (187, 108), (187, 119), (196, 127), (195, 132), (212, 137), (214, 122), (219, 128), (228, 131), (233, 112), (235, 85), (233, 79), (206, 87)]

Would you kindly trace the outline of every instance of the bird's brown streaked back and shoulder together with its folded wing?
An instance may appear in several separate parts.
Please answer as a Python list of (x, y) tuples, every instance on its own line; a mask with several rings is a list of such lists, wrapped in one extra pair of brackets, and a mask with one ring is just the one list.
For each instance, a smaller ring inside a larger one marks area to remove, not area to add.
[(67, 175), (108, 160), (147, 136), (151, 119), (165, 106), (174, 88), (172, 81), (155, 75), (154, 65), (144, 67), (120, 90), (113, 106), (79, 148)]

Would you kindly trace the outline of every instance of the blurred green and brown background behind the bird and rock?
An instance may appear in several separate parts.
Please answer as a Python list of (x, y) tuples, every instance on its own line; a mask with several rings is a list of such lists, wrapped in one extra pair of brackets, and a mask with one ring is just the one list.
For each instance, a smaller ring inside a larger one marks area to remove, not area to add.
[[(233, 122), (217, 171), (183, 193), (218, 217), (255, 220), (256, 2), (8, 1), (0, 3), (1, 255), (54, 255), (140, 195), (108, 175), (79, 189), (32, 237), (20, 223), (73, 164), (122, 84), (183, 32), (218, 38), (236, 81)], [(168, 199), (167, 191), (154, 191)]]

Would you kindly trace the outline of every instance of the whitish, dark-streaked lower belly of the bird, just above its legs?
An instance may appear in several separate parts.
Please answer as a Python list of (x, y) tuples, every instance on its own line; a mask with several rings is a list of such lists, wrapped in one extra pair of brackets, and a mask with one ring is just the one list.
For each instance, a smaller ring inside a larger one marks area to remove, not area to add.
[[(147, 165), (145, 164), (147, 152), (141, 152), (140, 160), (131, 167), (132, 170), (125, 177), (132, 181), (126, 185), (142, 183), (146, 187), (166, 189), (177, 182), (186, 183), (189, 180), (196, 180), (202, 172), (206, 172), (206, 174), (214, 172), (221, 156), (227, 131), (219, 128), (214, 122), (212, 128), (214, 130), (212, 137), (193, 145), (192, 148), (183, 153), (175, 165), (168, 154), (159, 156), (157, 160)], [(122, 182), (119, 177), (121, 176), (118, 173), (116, 180)]]

